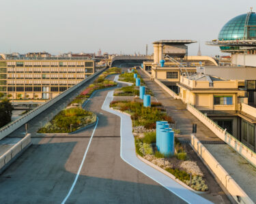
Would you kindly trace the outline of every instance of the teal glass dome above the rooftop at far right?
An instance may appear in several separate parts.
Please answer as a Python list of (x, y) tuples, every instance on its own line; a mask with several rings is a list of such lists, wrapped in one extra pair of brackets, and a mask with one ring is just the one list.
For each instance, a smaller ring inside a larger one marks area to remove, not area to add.
[(247, 29), (244, 30), (247, 15), (242, 14), (229, 20), (218, 34), (218, 40), (236, 40), (244, 39), (244, 37), (245, 39), (256, 38), (256, 27), (248, 27), (256, 26), (256, 14), (251, 13), (248, 24), (246, 25)]

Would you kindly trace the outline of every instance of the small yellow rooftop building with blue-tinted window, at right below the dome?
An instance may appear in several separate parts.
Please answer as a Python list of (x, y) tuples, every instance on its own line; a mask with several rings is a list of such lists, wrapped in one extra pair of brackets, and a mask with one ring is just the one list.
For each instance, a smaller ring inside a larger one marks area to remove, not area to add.
[(190, 78), (181, 77), (180, 99), (199, 110), (238, 111), (239, 103), (246, 101), (245, 90), (240, 90), (238, 80), (224, 80), (201, 73)]

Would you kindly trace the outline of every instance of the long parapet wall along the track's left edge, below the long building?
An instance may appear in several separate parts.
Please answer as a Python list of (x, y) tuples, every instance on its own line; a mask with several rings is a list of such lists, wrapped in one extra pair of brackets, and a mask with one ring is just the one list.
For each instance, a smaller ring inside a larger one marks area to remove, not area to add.
[(31, 120), (35, 116), (38, 116), (38, 114), (44, 112), (44, 110), (46, 110), (48, 107), (51, 107), (51, 105), (53, 105), (54, 103), (56, 103), (63, 97), (66, 97), (66, 95), (70, 94), (70, 92), (72, 92), (76, 88), (79, 88), (80, 86), (82, 86), (83, 84), (88, 82), (89, 80), (93, 79), (94, 77), (96, 77), (97, 75), (102, 73), (102, 71), (104, 71), (105, 69), (97, 71), (96, 73), (94, 73), (93, 75), (90, 75), (88, 78), (86, 78), (82, 82), (79, 82), (79, 84), (76, 84), (76, 85), (72, 86), (71, 88), (68, 88), (68, 90), (61, 92), (61, 94), (57, 95), (57, 97), (47, 101), (46, 103), (44, 103), (43, 105), (40, 105), (39, 107), (31, 110), (30, 112), (28, 112), (24, 116), (18, 118), (17, 120), (14, 120), (13, 122), (10, 122), (9, 124), (3, 126), (0, 129), (0, 140), (3, 139), (3, 137), (5, 137), (5, 136), (9, 135), (10, 133), (12, 133), (13, 131), (15, 131), (16, 129), (18, 129), (20, 126), (23, 126), (23, 124), (29, 122), (29, 120)]

